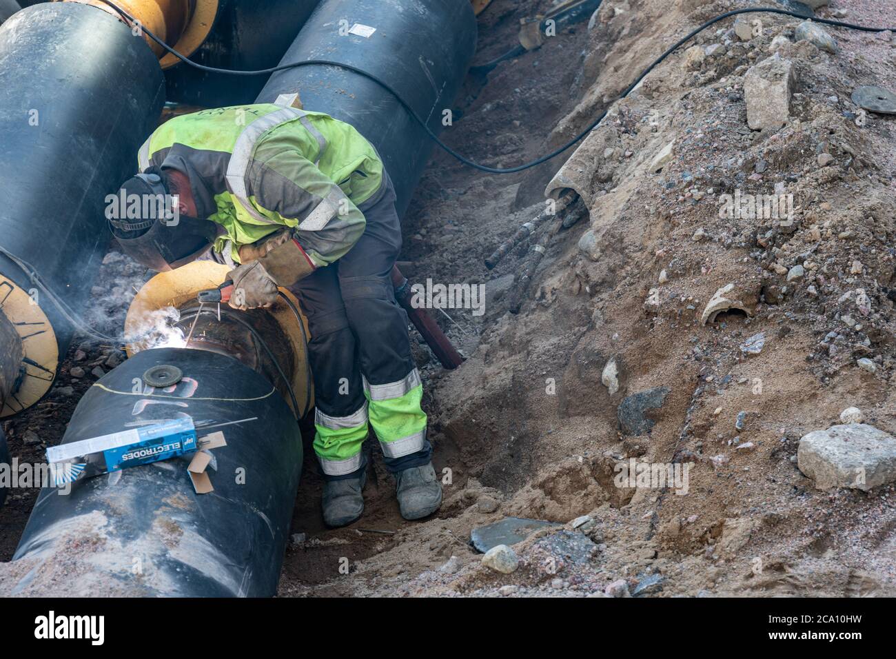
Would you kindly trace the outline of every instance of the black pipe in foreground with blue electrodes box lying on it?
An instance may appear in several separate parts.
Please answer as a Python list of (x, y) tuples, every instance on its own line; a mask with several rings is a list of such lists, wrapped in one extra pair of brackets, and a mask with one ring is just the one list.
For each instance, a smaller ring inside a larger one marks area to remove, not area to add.
[[(174, 391), (134, 394), (160, 364), (184, 379)], [(41, 490), (13, 556), (33, 567), (4, 594), (276, 594), (302, 441), (266, 378), (216, 352), (142, 351), (90, 387), (63, 443), (185, 416), (205, 428), (201, 437), (220, 430), (227, 440), (211, 451), (213, 492), (194, 493), (188, 458), (75, 481), (68, 495)]]

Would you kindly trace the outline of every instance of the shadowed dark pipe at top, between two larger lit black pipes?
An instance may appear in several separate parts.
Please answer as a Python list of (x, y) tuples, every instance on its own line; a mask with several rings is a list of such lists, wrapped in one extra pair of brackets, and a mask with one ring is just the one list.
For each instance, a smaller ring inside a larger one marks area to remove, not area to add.
[[(271, 68), (320, 0), (221, 0), (208, 38), (190, 59), (239, 71)], [(251, 103), (267, 77), (234, 78), (178, 64), (165, 72), (168, 100), (219, 108)]]

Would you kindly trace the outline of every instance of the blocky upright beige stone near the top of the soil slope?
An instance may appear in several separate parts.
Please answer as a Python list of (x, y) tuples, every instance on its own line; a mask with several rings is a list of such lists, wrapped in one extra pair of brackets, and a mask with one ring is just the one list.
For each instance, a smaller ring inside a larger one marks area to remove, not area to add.
[(753, 65), (744, 77), (746, 124), (753, 130), (777, 130), (790, 116), (796, 77), (788, 59), (771, 56)]

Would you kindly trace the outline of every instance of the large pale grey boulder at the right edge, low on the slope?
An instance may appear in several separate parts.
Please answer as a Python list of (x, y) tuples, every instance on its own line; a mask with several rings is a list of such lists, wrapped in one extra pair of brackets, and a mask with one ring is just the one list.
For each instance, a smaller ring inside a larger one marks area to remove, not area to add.
[(866, 423), (813, 430), (799, 440), (797, 466), (819, 490), (871, 490), (896, 481), (896, 438)]

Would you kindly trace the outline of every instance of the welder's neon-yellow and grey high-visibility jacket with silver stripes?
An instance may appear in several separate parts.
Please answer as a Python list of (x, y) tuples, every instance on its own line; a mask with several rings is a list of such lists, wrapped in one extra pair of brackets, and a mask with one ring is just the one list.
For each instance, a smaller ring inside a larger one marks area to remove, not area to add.
[(286, 226), (315, 267), (331, 264), (364, 232), (358, 206), (383, 192), (383, 161), (354, 127), (269, 103), (169, 119), (138, 160), (190, 178), (198, 214), (224, 229), (214, 250), (234, 263), (240, 246)]

